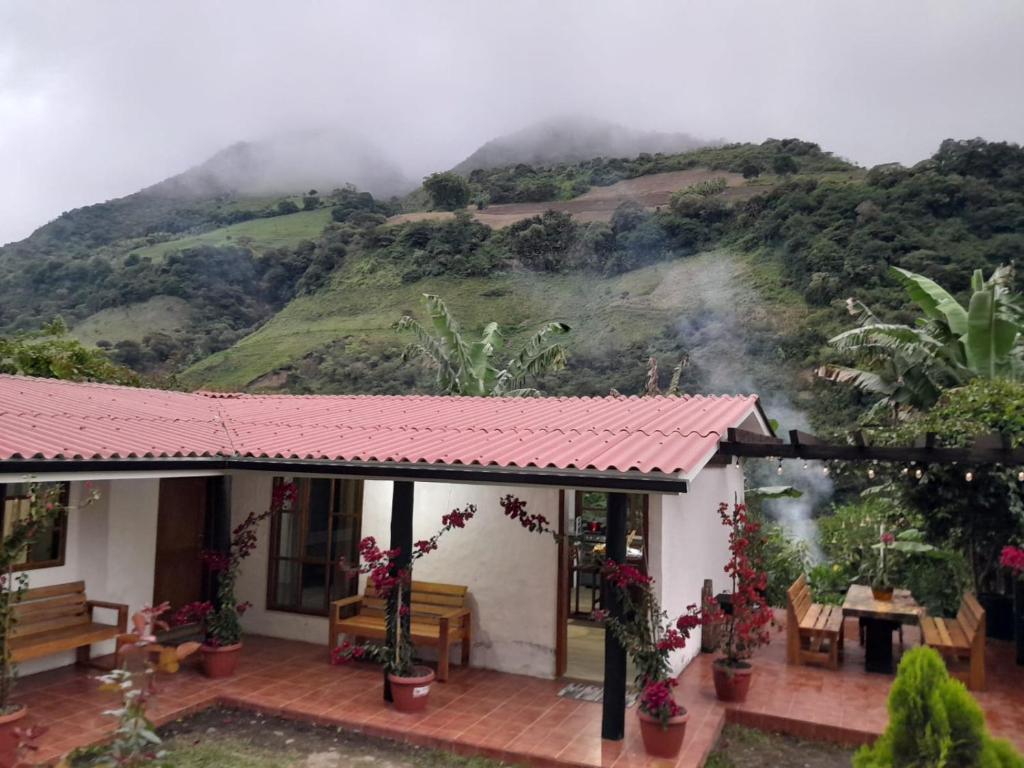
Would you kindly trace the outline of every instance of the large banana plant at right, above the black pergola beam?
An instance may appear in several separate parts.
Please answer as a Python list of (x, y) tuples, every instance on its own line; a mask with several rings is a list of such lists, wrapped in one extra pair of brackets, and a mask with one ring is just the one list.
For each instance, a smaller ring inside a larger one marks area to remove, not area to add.
[(937, 283), (892, 267), (924, 317), (915, 326), (883, 323), (850, 300), (857, 328), (829, 340), (864, 368), (823, 366), (818, 375), (848, 382), (879, 397), (879, 404), (927, 410), (944, 389), (974, 379), (1024, 379), (1024, 302), (1012, 291), (1013, 270), (997, 268), (987, 281), (971, 280), (965, 307)]

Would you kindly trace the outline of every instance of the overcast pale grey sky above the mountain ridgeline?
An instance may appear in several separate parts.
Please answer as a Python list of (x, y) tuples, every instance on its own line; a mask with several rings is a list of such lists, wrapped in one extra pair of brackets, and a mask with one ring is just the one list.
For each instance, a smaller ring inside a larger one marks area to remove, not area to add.
[(345, 125), (413, 176), (537, 119), (1024, 140), (1022, 0), (0, 0), (0, 243), (226, 144)]

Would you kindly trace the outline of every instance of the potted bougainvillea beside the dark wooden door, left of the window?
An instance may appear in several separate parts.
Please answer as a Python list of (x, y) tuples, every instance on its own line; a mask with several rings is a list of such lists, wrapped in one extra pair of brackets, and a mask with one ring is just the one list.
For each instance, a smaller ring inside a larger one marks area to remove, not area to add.
[(256, 531), (263, 520), (275, 512), (287, 509), (295, 499), (295, 484), (283, 483), (273, 492), (270, 509), (260, 514), (250, 512), (232, 531), (226, 552), (205, 551), (203, 562), (217, 578), (215, 602), (187, 603), (174, 614), (174, 624), (201, 624), (204, 641), (200, 649), (203, 671), (207, 677), (230, 677), (239, 666), (242, 651), (242, 615), (252, 607), (240, 602), (234, 594), (242, 561), (256, 549)]

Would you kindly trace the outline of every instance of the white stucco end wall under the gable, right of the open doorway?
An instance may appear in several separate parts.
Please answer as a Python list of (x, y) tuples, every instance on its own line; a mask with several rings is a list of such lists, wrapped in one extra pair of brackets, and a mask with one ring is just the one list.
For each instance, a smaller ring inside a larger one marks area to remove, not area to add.
[[(706, 467), (686, 494), (652, 496), (650, 500), (649, 567), (663, 607), (676, 617), (700, 602), (705, 579), (715, 593), (726, 587), (723, 568), (729, 557), (728, 529), (718, 515), (721, 502), (743, 501), (743, 473), (737, 467)], [(678, 673), (700, 652), (699, 630), (686, 648), (673, 653)]]

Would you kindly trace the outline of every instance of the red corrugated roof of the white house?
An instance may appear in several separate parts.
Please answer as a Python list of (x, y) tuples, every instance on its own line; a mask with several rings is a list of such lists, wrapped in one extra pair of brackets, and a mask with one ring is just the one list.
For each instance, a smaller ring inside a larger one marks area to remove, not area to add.
[(692, 476), (757, 397), (223, 395), (0, 376), (0, 461), (283, 457)]

